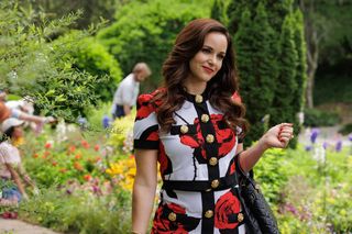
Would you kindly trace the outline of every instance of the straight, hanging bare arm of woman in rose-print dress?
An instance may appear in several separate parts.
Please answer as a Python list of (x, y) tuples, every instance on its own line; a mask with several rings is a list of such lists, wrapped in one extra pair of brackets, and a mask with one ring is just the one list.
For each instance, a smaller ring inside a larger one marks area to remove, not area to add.
[(136, 175), (132, 194), (132, 233), (147, 231), (157, 185), (157, 151), (135, 151)]

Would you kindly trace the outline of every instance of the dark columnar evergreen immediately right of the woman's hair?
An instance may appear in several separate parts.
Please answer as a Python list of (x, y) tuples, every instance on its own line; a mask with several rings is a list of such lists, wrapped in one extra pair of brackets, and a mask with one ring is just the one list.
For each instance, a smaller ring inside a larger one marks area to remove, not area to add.
[[(234, 47), (238, 55), (240, 74), (240, 94), (246, 108), (246, 119), (251, 131), (245, 137), (245, 144), (256, 141), (264, 132), (262, 118), (270, 113), (274, 99), (277, 64), (273, 57), (273, 29), (268, 25), (263, 5), (251, 20), (250, 10), (245, 9), (241, 19), (241, 27), (234, 36)], [(268, 42), (268, 43), (263, 43)]]

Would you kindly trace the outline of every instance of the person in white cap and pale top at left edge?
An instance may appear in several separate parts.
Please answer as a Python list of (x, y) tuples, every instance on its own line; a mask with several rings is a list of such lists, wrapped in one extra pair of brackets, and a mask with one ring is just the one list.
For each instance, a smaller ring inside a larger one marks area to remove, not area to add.
[[(22, 124), (14, 118), (9, 118), (1, 124), (2, 138), (0, 143), (0, 188), (2, 196), (0, 198), (1, 204), (18, 203), (22, 199), (28, 199), (24, 190), (23, 181), (33, 187), (33, 191), (37, 189), (29, 175), (25, 172), (22, 164), (19, 149), (13, 145), (19, 138), (22, 137)], [(7, 185), (7, 186), (4, 186)]]

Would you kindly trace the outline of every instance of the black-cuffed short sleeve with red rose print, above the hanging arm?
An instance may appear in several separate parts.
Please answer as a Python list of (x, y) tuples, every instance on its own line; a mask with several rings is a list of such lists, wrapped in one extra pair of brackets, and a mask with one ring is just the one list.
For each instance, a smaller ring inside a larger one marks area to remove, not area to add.
[(158, 123), (152, 94), (141, 94), (136, 101), (136, 116), (133, 127), (134, 148), (158, 149)]

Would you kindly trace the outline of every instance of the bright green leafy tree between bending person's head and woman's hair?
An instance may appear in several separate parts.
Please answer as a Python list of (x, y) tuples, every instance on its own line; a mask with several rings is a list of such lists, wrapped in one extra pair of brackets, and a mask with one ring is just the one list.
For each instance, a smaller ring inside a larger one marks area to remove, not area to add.
[(211, 3), (200, 0), (131, 1), (117, 11), (117, 21), (101, 30), (98, 38), (119, 60), (124, 75), (135, 63), (146, 62), (153, 71), (150, 88), (155, 88), (161, 82), (162, 64), (177, 33), (189, 21), (209, 16)]

